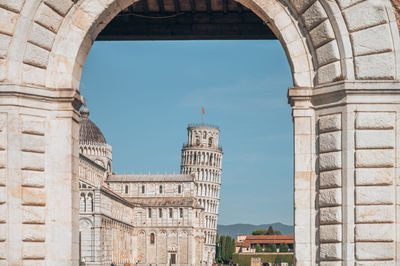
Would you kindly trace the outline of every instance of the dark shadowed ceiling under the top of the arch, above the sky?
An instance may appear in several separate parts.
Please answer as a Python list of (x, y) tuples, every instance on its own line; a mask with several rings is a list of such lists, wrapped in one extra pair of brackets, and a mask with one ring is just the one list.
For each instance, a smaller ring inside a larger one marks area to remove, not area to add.
[(121, 11), (97, 40), (273, 40), (251, 10), (233, 0), (141, 0)]

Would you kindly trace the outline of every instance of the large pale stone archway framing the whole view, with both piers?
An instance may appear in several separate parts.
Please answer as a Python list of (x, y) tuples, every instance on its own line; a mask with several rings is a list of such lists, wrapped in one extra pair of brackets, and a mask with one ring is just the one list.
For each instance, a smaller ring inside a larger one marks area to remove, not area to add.
[[(292, 69), (297, 265), (400, 264), (390, 0), (239, 1)], [(0, 262), (78, 263), (81, 71), (97, 34), (133, 2), (0, 1)]]

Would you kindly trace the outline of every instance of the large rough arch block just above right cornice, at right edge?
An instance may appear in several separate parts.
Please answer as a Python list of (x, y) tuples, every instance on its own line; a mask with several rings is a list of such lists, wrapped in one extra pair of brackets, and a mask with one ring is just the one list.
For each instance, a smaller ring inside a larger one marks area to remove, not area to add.
[(395, 59), (392, 52), (357, 56), (354, 62), (357, 79), (394, 79)]

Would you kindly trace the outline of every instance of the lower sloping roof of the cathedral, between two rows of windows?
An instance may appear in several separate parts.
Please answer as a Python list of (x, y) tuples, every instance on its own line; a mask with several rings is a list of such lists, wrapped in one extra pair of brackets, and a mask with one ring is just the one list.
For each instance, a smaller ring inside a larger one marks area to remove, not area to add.
[(133, 204), (148, 207), (198, 207), (193, 197), (126, 197)]

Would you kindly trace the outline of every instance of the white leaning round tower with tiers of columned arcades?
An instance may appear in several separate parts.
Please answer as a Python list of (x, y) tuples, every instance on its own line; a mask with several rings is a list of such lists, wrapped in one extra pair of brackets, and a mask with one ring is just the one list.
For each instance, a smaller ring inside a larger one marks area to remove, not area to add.
[(183, 144), (181, 174), (194, 173), (197, 201), (205, 209), (205, 247), (203, 263), (212, 264), (217, 237), (222, 148), (218, 146), (217, 126), (189, 125), (188, 142)]

